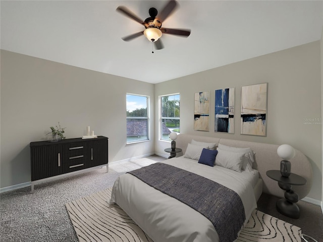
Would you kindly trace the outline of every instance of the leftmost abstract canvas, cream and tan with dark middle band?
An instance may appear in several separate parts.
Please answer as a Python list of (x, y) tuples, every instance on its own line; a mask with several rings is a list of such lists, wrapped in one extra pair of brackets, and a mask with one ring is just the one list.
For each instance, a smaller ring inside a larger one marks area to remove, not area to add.
[(194, 94), (194, 130), (209, 131), (210, 92)]

